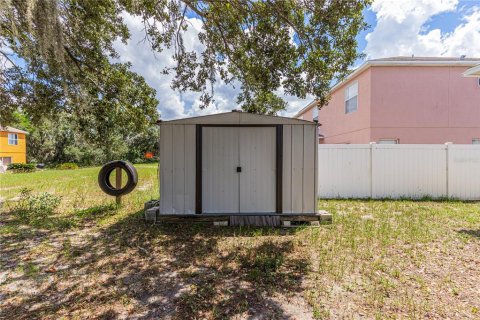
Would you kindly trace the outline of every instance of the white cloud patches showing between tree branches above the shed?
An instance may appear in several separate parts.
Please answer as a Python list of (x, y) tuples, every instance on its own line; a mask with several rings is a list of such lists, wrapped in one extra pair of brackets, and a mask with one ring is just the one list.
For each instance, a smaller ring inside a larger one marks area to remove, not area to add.
[[(115, 43), (115, 49), (120, 56), (119, 60), (121, 62), (131, 62), (133, 71), (142, 75), (146, 82), (157, 91), (158, 109), (162, 119), (178, 119), (238, 109), (236, 103), (236, 97), (240, 93), (238, 84), (226, 85), (221, 81), (214, 83), (215, 102), (205, 109), (200, 109), (199, 93), (191, 91), (182, 93), (172, 90), (170, 84), (173, 76), (164, 75), (162, 70), (165, 67), (174, 66), (173, 48), (154, 53), (149, 43), (144, 41), (145, 32), (143, 31), (141, 18), (124, 14), (123, 19), (130, 30), (131, 39), (126, 45), (120, 41)], [(203, 46), (197, 38), (201, 28), (202, 22), (200, 19), (188, 19), (188, 30), (183, 38), (188, 50), (194, 50), (197, 53), (203, 50)], [(283, 94), (283, 90), (279, 90), (277, 94), (280, 94), (288, 103), (287, 110), (281, 112), (281, 115), (284, 116), (294, 115), (312, 100), (311, 97), (301, 100), (286, 96)]]

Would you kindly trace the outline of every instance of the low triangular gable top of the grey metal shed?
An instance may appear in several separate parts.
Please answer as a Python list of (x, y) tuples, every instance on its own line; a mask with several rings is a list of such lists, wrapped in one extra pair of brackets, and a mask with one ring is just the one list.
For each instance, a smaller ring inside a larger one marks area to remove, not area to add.
[(248, 112), (224, 112), (178, 120), (163, 121), (161, 124), (315, 124), (315, 122), (287, 117), (268, 116)]

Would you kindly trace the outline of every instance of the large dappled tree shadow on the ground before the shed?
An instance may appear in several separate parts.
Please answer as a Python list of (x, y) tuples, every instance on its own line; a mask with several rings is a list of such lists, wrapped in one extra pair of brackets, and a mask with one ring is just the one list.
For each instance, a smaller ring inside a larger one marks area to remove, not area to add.
[[(96, 217), (98, 211), (76, 215)], [(274, 296), (302, 290), (309, 266), (294, 254), (288, 235), (295, 232), (201, 224), (151, 226), (139, 211), (84, 242), (63, 239), (54, 263), (61, 270), (40, 292), (3, 308), (0, 318), (293, 319)], [(224, 241), (230, 242), (225, 246)], [(22, 255), (0, 248), (6, 260)], [(45, 271), (40, 273), (45, 276)]]

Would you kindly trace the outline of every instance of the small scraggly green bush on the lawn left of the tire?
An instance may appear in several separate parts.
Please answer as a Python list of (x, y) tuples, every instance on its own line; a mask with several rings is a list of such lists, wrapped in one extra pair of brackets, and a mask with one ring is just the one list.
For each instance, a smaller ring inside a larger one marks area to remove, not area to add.
[(61, 198), (54, 194), (48, 192), (32, 194), (31, 189), (24, 188), (20, 192), (20, 200), (14, 212), (22, 220), (39, 221), (49, 218), (60, 205), (60, 200)]

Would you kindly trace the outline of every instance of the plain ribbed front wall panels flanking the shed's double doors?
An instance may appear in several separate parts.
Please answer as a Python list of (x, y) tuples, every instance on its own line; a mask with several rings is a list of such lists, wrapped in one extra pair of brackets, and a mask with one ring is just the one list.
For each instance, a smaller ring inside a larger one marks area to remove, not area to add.
[[(284, 213), (315, 212), (314, 125), (283, 127)], [(195, 124), (160, 126), (160, 213), (195, 213)]]

